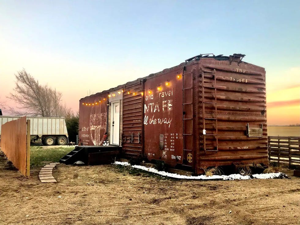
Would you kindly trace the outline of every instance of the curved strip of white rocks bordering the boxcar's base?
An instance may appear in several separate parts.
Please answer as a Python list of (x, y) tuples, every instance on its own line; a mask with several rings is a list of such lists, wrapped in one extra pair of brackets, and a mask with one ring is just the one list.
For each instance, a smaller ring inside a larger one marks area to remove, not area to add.
[(241, 174), (231, 174), (231, 175), (212, 175), (212, 176), (206, 176), (206, 175), (199, 175), (199, 176), (186, 176), (186, 175), (179, 175), (179, 174), (172, 174), (165, 171), (158, 171), (155, 168), (151, 167), (144, 167), (139, 165), (131, 165), (127, 162), (114, 162), (115, 165), (122, 165), (122, 166), (130, 166), (136, 169), (148, 171), (151, 173), (159, 174), (161, 176), (165, 177), (171, 177), (171, 178), (178, 178), (178, 179), (190, 179), (190, 180), (249, 180), (252, 178), (257, 179), (273, 179), (273, 178), (287, 178), (287, 175), (283, 173), (269, 173), (269, 174), (253, 174), (251, 176), (246, 175), (242, 176)]

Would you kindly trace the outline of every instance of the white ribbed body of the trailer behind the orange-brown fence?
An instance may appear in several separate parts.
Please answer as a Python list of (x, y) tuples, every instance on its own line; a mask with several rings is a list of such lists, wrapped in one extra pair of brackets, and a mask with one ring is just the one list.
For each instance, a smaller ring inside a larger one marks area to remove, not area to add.
[[(20, 117), (0, 116), (0, 135), (2, 124)], [(27, 117), (30, 120), (30, 135), (66, 135), (69, 137), (66, 120), (63, 117)]]

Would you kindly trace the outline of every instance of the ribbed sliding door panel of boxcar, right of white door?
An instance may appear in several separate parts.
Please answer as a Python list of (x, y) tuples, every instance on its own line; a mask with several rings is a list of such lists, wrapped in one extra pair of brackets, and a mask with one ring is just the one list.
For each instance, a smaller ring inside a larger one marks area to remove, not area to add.
[(123, 92), (122, 149), (128, 157), (140, 157), (143, 153), (142, 93), (142, 81), (125, 86)]

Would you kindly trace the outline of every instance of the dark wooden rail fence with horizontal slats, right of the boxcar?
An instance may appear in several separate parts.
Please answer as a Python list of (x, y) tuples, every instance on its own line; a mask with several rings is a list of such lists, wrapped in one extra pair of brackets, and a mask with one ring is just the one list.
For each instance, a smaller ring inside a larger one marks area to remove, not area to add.
[(300, 137), (268, 136), (269, 162), (300, 167)]

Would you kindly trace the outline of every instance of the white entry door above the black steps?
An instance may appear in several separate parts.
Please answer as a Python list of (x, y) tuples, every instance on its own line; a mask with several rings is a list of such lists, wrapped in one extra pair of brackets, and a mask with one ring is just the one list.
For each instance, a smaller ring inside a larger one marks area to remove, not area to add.
[(111, 103), (111, 144), (120, 144), (120, 102)]

